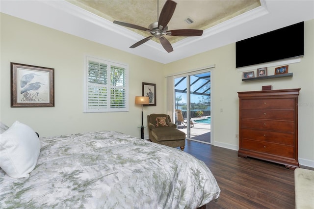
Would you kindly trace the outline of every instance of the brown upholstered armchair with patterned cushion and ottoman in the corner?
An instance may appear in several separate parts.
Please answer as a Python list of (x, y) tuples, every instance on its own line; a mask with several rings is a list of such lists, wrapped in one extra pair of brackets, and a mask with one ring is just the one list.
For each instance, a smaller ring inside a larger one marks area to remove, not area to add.
[(147, 115), (148, 134), (152, 142), (169, 147), (185, 147), (185, 133), (177, 129), (166, 114)]

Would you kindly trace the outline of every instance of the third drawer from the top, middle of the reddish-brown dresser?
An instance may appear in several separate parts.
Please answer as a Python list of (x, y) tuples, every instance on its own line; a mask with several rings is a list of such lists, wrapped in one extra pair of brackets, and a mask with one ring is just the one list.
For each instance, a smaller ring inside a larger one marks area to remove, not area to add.
[(295, 124), (292, 121), (241, 119), (241, 128), (294, 133)]

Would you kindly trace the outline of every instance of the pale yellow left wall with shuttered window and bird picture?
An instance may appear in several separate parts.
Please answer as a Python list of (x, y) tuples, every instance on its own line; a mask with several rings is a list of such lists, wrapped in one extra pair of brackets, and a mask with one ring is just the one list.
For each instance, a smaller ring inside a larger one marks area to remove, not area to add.
[[(163, 112), (162, 64), (73, 35), (1, 13), (0, 120), (29, 125), (41, 136), (85, 131), (116, 130), (140, 137), (142, 82), (156, 83), (157, 106), (144, 107), (146, 115)], [(105, 38), (105, 37), (104, 37)], [(130, 69), (130, 111), (83, 113), (84, 55), (127, 63)], [(54, 68), (55, 107), (10, 107), (10, 62)], [(148, 135), (145, 129), (145, 135)]]

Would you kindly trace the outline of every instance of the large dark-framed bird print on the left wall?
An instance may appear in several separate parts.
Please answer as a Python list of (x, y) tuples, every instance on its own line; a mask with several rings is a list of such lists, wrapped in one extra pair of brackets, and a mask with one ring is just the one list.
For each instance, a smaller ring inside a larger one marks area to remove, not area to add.
[(11, 62), (11, 107), (54, 107), (54, 69)]

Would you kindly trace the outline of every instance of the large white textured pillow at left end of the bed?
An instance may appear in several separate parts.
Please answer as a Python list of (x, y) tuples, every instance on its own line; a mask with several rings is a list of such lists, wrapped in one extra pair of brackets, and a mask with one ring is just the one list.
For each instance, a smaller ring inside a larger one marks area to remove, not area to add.
[(0, 134), (0, 167), (12, 178), (28, 178), (39, 152), (40, 141), (35, 131), (19, 121)]

